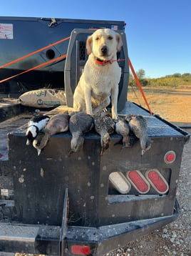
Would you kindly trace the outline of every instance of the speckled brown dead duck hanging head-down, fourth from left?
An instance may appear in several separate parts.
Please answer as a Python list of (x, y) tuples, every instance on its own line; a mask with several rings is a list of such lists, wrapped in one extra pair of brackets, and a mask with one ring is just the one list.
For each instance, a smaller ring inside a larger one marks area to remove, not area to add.
[(108, 149), (110, 144), (110, 134), (115, 131), (115, 122), (110, 117), (110, 114), (103, 112), (100, 115), (94, 117), (95, 129), (98, 134), (100, 134), (100, 144), (102, 156), (106, 149)]

